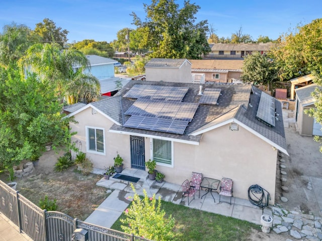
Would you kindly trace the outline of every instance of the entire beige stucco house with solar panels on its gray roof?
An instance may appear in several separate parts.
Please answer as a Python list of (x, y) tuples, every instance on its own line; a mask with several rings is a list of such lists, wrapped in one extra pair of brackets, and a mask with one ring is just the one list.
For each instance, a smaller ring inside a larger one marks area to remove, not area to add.
[(200, 94), (200, 84), (169, 80), (130, 81), (72, 112), (72, 142), (95, 168), (113, 165), (117, 154), (124, 168), (145, 170), (154, 159), (168, 182), (181, 184), (192, 172), (229, 177), (235, 197), (248, 199), (259, 184), (273, 204), (278, 150), (287, 154), (281, 103), (251, 85), (208, 83)]

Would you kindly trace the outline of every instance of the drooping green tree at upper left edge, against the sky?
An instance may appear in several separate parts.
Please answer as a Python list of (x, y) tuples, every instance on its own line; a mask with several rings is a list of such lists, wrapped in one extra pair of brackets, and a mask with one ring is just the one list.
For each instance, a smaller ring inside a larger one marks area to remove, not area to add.
[(36, 41), (36, 38), (26, 25), (5, 25), (0, 34), (0, 64), (8, 67), (10, 63), (15, 63), (34, 44), (33, 40)]

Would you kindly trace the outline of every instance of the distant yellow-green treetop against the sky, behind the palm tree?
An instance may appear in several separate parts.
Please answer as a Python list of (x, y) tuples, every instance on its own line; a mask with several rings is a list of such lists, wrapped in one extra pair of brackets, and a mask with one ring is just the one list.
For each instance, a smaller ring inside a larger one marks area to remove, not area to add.
[(42, 38), (43, 42), (55, 42), (61, 47), (67, 42), (67, 34), (69, 33), (61, 27), (57, 28), (56, 24), (50, 19), (44, 19), (43, 23), (36, 24), (34, 32)]

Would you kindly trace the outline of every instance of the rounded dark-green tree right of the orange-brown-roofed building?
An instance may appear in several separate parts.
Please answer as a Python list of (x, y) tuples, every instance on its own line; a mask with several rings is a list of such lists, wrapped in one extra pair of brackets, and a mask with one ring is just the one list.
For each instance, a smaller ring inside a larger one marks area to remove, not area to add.
[(259, 52), (247, 55), (241, 69), (243, 70), (243, 75), (241, 75), (243, 81), (267, 85), (268, 90), (271, 89), (272, 83), (277, 80), (274, 61)]

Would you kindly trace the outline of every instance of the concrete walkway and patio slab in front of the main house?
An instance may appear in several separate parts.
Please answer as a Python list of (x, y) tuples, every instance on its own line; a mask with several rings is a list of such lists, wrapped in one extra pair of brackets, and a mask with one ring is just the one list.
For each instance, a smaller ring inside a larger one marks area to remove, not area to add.
[[(96, 170), (96, 172), (102, 174), (102, 170)], [(157, 183), (151, 181), (147, 179), (147, 173), (142, 170), (125, 169), (122, 171), (122, 174), (140, 178), (137, 183), (133, 183), (136, 192), (139, 195), (143, 195), (143, 189), (145, 189), (148, 196), (152, 196), (155, 193), (156, 198), (160, 196), (162, 200), (188, 206), (187, 198), (181, 202), (180, 185), (169, 182)], [(97, 185), (114, 189), (114, 191), (85, 221), (110, 228), (129, 205), (130, 201), (127, 197), (133, 196), (133, 191), (129, 182), (114, 178), (110, 178), (110, 180), (102, 178)], [(205, 193), (205, 191), (201, 191), (200, 197)], [(215, 202), (210, 193), (202, 199), (199, 198), (198, 195), (199, 193), (197, 192), (195, 200), (189, 205), (190, 208), (196, 208), (260, 224), (260, 218), (263, 211), (261, 208), (251, 204), (249, 200), (233, 197), (230, 205), (225, 202), (219, 203), (219, 195), (217, 193), (213, 193)], [(222, 197), (221, 201), (225, 200), (225, 198), (226, 197)], [(229, 201), (229, 199), (226, 198), (226, 201)]]

